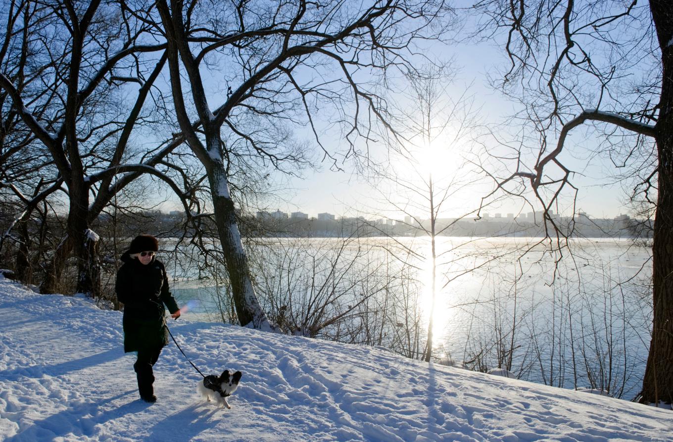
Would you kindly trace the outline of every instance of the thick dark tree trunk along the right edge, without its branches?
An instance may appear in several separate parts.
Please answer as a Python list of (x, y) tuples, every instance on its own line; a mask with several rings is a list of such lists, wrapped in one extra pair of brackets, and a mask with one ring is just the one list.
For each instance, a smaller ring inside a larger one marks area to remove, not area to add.
[(656, 124), (658, 200), (652, 244), (652, 339), (640, 402), (673, 402), (673, 9), (668, 0), (651, 0), (662, 48), (662, 96)]

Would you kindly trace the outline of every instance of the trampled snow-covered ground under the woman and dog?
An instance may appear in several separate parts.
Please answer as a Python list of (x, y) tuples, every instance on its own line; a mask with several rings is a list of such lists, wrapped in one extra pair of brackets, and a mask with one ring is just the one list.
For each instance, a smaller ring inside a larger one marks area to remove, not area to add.
[(122, 314), (0, 279), (3, 441), (670, 441), (673, 412), (411, 361), (381, 349), (180, 318), (207, 374), (244, 372), (231, 410), (198, 398), (171, 343), (158, 401), (136, 391)]

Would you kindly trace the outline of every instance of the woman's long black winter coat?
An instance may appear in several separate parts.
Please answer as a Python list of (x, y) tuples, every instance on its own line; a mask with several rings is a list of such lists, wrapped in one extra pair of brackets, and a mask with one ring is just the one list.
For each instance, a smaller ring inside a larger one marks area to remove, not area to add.
[(164, 305), (171, 313), (179, 310), (168, 288), (164, 264), (153, 258), (144, 265), (128, 252), (121, 260), (124, 264), (117, 271), (115, 291), (124, 304), (124, 351), (160, 349), (168, 344)]

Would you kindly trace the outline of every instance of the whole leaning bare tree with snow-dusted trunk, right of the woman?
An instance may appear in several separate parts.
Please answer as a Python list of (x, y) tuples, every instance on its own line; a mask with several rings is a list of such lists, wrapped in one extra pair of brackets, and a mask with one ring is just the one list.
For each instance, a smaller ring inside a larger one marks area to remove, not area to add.
[[(267, 328), (229, 189), (229, 158), (241, 147), (225, 144), (223, 133), (224, 138), (237, 134), (246, 143), (243, 148), (282, 169), (300, 159), (283, 149), (274, 130), (254, 128), (308, 125), (316, 144), (336, 164), (319, 135), (336, 124), (344, 131), (345, 156), (359, 155), (357, 139), (371, 140), (377, 124), (388, 125), (376, 94), (379, 82), (370, 75), (384, 77), (388, 69), (409, 67), (413, 42), (434, 35), (430, 24), (446, 12), (444, 4), (326, 0), (279, 3), (269, 9), (267, 3), (252, 1), (162, 0), (157, 8), (168, 40), (178, 123), (207, 171), (236, 312), (241, 324)], [(209, 67), (212, 73), (219, 71), (217, 91), (210, 95)], [(318, 116), (318, 109), (333, 114)], [(201, 132), (189, 126), (190, 113), (203, 122)], [(322, 118), (327, 120), (324, 126)]]

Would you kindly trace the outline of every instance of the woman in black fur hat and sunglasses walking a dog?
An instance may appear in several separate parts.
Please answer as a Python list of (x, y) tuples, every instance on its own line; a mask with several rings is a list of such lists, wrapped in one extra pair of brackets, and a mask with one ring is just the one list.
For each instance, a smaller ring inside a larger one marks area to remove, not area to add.
[(168, 288), (168, 276), (161, 261), (155, 259), (159, 250), (157, 238), (139, 235), (122, 255), (124, 264), (117, 271), (115, 290), (124, 304), (124, 351), (136, 351), (133, 364), (137, 373), (138, 391), (145, 402), (156, 402), (152, 366), (168, 344), (168, 328), (164, 305), (177, 319), (180, 309)]

